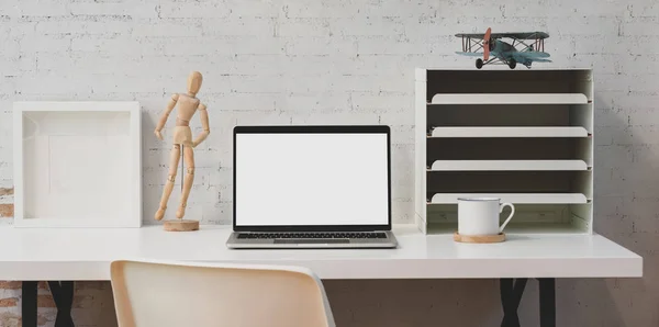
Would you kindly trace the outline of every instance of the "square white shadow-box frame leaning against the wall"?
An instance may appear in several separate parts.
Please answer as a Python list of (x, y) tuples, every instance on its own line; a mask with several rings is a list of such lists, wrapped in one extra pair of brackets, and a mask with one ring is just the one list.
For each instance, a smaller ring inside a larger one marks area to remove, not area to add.
[(14, 102), (15, 227), (141, 227), (138, 102)]

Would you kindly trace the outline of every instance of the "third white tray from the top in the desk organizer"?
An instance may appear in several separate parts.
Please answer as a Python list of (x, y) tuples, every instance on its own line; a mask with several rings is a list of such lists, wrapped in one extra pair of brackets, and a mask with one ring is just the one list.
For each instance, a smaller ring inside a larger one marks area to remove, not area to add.
[(588, 170), (583, 160), (436, 160), (429, 171)]

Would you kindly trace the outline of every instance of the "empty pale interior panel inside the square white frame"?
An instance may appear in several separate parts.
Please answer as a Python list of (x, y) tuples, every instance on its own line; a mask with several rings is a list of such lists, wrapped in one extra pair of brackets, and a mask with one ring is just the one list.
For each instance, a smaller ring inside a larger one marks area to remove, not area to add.
[(25, 111), (23, 218), (130, 217), (131, 113)]

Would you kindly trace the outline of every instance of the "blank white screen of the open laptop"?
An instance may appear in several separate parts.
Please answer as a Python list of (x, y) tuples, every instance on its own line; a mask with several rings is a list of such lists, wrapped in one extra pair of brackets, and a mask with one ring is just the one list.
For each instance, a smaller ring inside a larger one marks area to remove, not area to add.
[(235, 225), (389, 224), (387, 133), (237, 133)]

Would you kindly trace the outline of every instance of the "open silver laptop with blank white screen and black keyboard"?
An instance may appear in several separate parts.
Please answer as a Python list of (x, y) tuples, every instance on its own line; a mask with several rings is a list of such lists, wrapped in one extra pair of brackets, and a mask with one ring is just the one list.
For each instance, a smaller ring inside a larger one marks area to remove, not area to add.
[(236, 126), (228, 248), (393, 248), (389, 126)]

